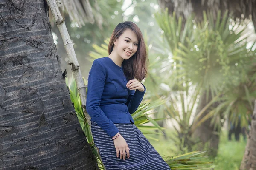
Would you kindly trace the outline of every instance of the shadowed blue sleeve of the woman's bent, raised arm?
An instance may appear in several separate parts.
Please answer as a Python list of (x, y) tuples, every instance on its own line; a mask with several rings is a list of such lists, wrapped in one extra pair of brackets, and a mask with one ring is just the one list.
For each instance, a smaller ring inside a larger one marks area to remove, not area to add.
[(144, 89), (145, 90), (143, 92), (138, 91), (138, 90), (136, 90), (136, 91), (133, 90), (131, 92), (131, 94), (128, 96), (126, 105), (128, 107), (128, 111), (129, 111), (130, 114), (134, 113), (137, 110), (137, 108), (139, 107), (139, 105), (140, 105), (140, 103), (141, 103), (141, 101), (143, 99), (143, 96), (144, 96), (144, 94), (146, 92), (146, 87), (145, 86), (144, 86)]

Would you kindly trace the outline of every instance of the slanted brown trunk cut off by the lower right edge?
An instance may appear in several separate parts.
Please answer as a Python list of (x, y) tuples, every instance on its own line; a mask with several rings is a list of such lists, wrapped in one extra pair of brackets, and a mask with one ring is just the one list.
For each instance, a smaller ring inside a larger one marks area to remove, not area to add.
[(256, 101), (254, 103), (253, 117), (250, 127), (247, 145), (245, 147), (244, 158), (241, 162), (240, 170), (256, 169)]

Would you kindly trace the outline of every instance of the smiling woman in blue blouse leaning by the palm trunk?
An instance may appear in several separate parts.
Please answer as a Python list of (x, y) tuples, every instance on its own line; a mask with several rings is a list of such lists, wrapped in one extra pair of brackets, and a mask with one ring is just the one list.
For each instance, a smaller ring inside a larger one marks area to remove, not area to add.
[(86, 104), (94, 143), (106, 170), (170, 170), (131, 116), (146, 91), (140, 81), (146, 77), (148, 62), (136, 24), (126, 21), (116, 26), (108, 54), (93, 62)]

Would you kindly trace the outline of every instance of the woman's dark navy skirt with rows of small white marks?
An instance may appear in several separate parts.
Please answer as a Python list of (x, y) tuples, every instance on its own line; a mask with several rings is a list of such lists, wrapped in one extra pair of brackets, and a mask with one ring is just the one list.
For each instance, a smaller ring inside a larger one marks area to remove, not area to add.
[(114, 142), (96, 122), (91, 122), (93, 140), (106, 170), (171, 170), (134, 124), (116, 124), (130, 148), (130, 158), (116, 157)]

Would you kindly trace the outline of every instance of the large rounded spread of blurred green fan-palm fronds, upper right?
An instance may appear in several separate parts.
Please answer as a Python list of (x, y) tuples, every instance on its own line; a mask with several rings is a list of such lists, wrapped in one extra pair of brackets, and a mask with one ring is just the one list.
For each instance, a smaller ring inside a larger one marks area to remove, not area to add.
[(203, 82), (202, 87), (213, 92), (222, 91), (229, 83), (237, 85), (241, 70), (255, 54), (244, 42), (249, 36), (243, 36), (246, 25), (231, 23), (227, 12), (220, 17), (219, 12), (214, 21), (212, 14), (204, 12), (204, 20), (197, 24), (189, 17), (184, 30), (180, 31), (182, 19), (177, 21), (175, 13), (172, 16), (168, 11), (157, 14), (173, 55), (172, 74), (176, 77), (186, 75), (193, 83)]

